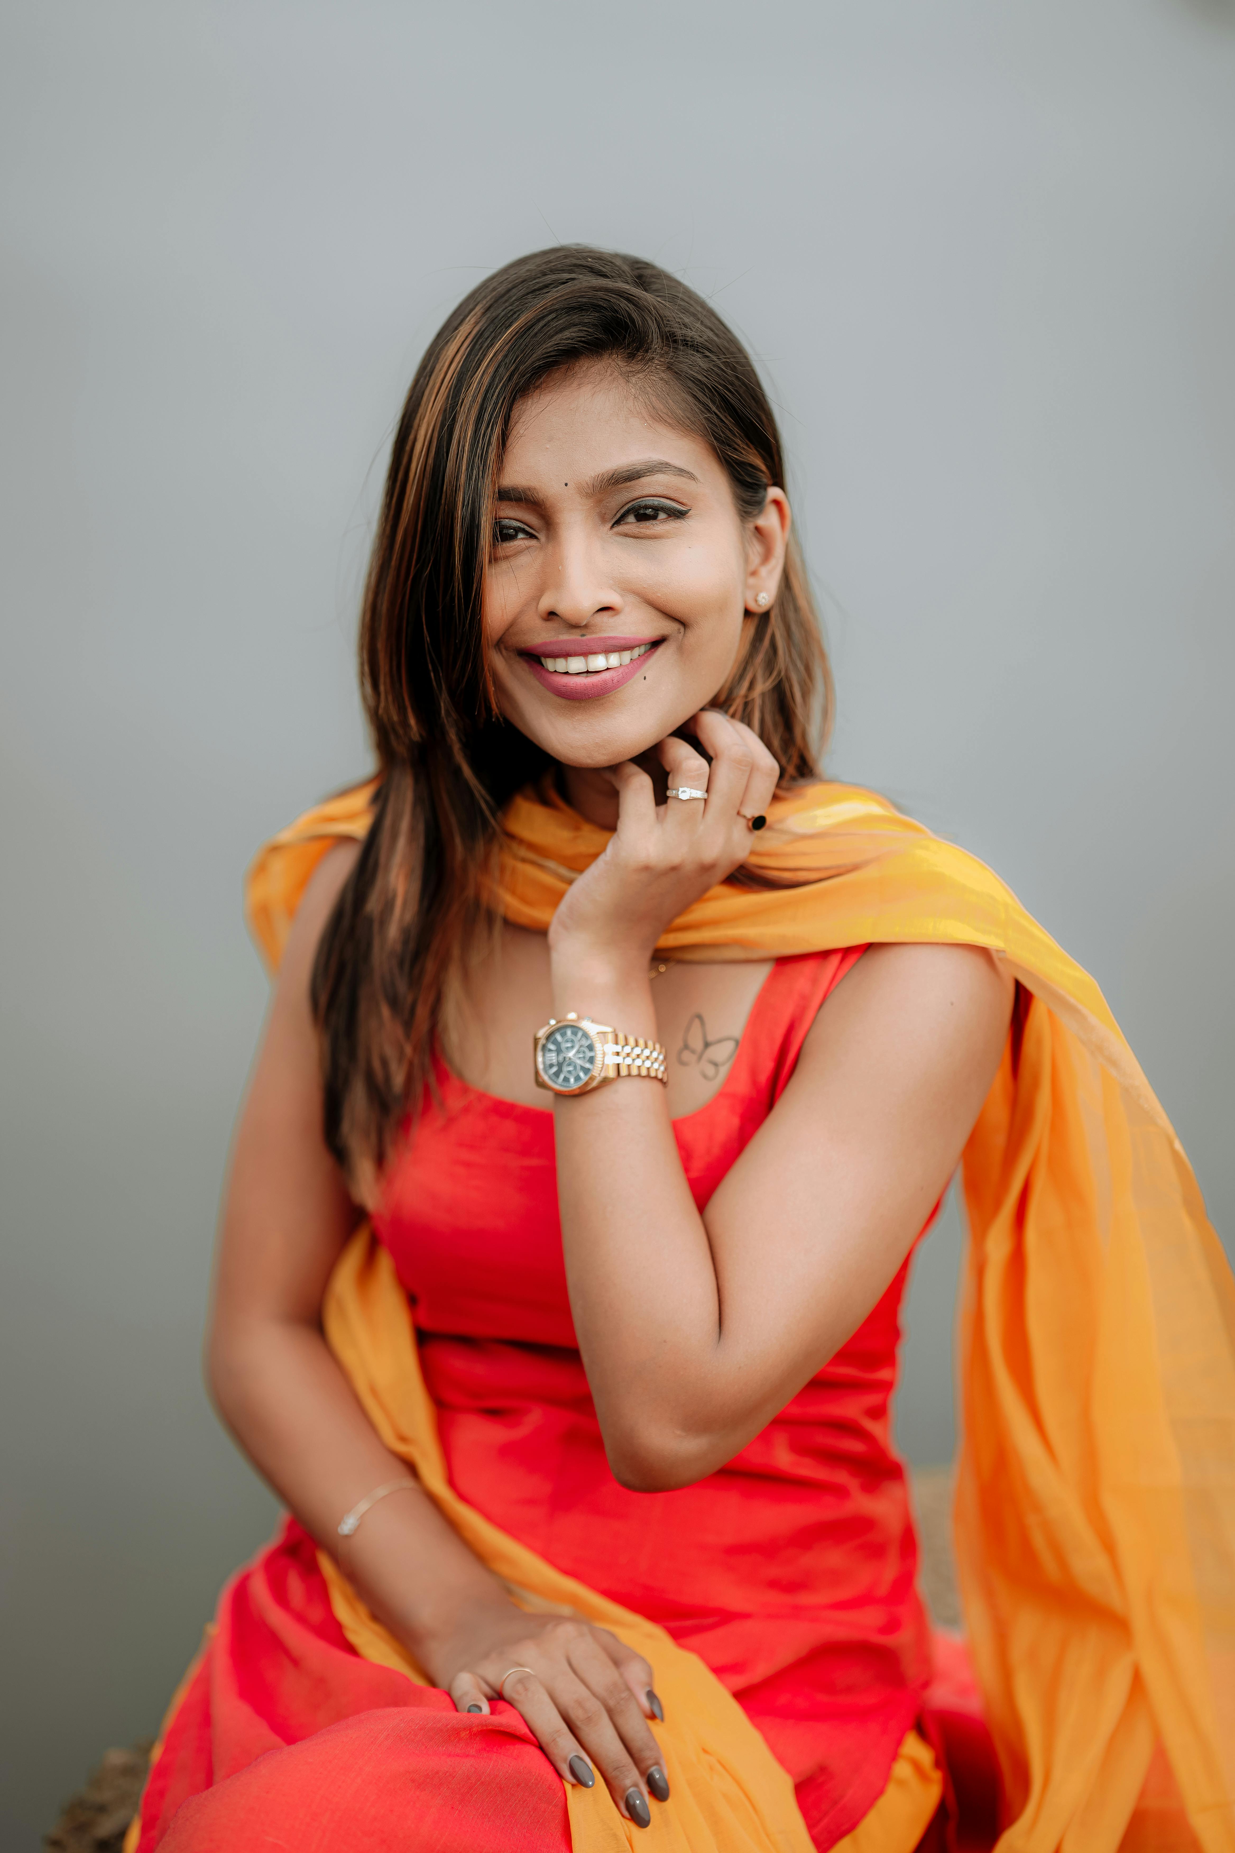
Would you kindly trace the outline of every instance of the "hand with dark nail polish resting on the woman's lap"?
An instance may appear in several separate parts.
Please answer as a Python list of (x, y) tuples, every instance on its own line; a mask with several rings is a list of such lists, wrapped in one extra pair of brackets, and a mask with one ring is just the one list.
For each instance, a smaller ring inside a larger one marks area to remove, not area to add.
[(491, 1701), (505, 1699), (563, 1781), (591, 1788), (598, 1770), (637, 1827), (652, 1825), (648, 1796), (668, 1801), (648, 1729), (648, 1718), (663, 1716), (652, 1668), (609, 1629), (500, 1601), (468, 1608), (431, 1660), (457, 1710), (487, 1712)]

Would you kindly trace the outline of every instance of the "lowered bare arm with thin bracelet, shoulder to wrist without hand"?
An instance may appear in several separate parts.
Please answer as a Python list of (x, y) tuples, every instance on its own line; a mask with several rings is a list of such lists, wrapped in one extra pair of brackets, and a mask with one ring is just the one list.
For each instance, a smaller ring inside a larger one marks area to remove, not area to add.
[[(367, 1492), (405, 1479), (326, 1347), (326, 1280), (359, 1212), (322, 1140), (309, 973), (322, 925), (356, 851), (331, 851), (293, 925), (231, 1154), (207, 1379), (218, 1414), (306, 1529), (339, 1551), (337, 1525)], [(465, 1599), (498, 1595), (493, 1577), (420, 1492), (374, 1506), (346, 1547), (348, 1575), (417, 1657), (431, 1618), (407, 1562)]]

